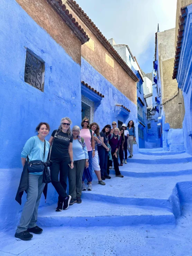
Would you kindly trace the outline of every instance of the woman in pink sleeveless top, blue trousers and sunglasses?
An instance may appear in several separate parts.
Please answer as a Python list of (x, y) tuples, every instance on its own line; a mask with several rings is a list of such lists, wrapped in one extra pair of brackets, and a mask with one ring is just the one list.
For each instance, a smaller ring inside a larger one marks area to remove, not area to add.
[(80, 132), (80, 136), (84, 139), (84, 142), (86, 144), (88, 155), (89, 155), (89, 167), (84, 168), (83, 171), (83, 178), (82, 178), (82, 187), (81, 190), (86, 190), (84, 180), (86, 179), (88, 181), (88, 190), (92, 190), (92, 157), (95, 156), (95, 142), (94, 142), (94, 131), (89, 129), (89, 119), (83, 118), (81, 122), (81, 126), (83, 127)]

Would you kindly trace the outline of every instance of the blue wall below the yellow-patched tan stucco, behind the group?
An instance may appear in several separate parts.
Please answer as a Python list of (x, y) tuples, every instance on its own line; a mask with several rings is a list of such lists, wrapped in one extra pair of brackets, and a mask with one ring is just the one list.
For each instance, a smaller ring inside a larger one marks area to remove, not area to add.
[[(107, 124), (112, 124), (112, 121), (120, 120), (127, 124), (129, 120), (133, 120), (137, 133), (137, 106), (83, 58), (81, 58), (81, 80), (104, 95), (101, 104), (94, 112), (94, 121), (98, 122), (101, 129)], [(129, 117), (125, 119), (122, 112), (116, 116), (116, 104), (124, 105), (130, 109)], [(138, 134), (136, 135), (138, 140)], [(136, 147), (135, 153), (137, 153)]]

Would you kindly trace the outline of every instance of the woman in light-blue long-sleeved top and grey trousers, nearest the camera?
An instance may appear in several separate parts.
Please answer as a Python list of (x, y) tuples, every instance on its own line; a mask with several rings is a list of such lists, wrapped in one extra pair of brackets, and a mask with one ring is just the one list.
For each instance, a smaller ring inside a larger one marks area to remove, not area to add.
[[(31, 137), (27, 140), (22, 152), (21, 163), (22, 166), (26, 163), (26, 158), (30, 161), (47, 161), (49, 152), (49, 142), (45, 137), (49, 134), (50, 127), (47, 123), (41, 122), (37, 127), (37, 136)], [(45, 147), (45, 156), (44, 156)], [(29, 240), (33, 237), (29, 232), (34, 234), (42, 233), (43, 229), (36, 225), (37, 213), (40, 203), (40, 198), (44, 189), (43, 172), (28, 173), (28, 188), (27, 201), (22, 210), (20, 224), (17, 227), (15, 237), (21, 240)]]

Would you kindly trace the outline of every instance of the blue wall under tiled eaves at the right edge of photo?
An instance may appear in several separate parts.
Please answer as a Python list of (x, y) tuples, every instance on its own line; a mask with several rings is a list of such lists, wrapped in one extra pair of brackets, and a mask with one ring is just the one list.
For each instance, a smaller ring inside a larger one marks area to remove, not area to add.
[(180, 52), (179, 67), (177, 72), (177, 82), (182, 89), (185, 116), (183, 120), (184, 148), (187, 153), (192, 155), (192, 4), (186, 7), (184, 24), (184, 36)]

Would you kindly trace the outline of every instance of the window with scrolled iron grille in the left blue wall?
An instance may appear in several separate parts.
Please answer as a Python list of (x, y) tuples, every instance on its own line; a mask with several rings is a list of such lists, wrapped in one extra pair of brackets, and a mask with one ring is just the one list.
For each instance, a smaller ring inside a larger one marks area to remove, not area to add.
[(27, 49), (25, 61), (25, 82), (43, 92), (45, 62), (35, 53)]

